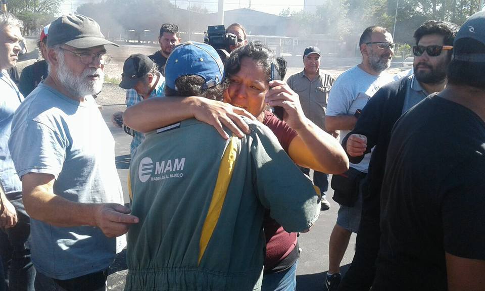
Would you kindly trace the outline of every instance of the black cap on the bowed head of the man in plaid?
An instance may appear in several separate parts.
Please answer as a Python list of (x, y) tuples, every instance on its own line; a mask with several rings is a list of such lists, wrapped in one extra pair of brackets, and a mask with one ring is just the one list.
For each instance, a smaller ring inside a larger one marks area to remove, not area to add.
[(152, 70), (153, 66), (152, 60), (145, 55), (134, 54), (129, 56), (123, 64), (119, 86), (123, 89), (132, 89), (139, 80)]

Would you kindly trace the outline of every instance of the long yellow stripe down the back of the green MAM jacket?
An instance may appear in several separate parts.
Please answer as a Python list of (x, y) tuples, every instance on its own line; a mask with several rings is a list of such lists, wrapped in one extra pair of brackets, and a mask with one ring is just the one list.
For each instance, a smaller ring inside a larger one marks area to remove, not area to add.
[(236, 163), (236, 158), (240, 151), (240, 140), (236, 136), (231, 136), (227, 144), (224, 155), (222, 156), (219, 173), (217, 175), (216, 186), (212, 193), (212, 200), (207, 212), (206, 220), (202, 226), (201, 240), (199, 242), (199, 264), (201, 263), (204, 252), (206, 251), (209, 240), (216, 227), (221, 215), (222, 205), (227, 194), (227, 187), (231, 181), (232, 172)]

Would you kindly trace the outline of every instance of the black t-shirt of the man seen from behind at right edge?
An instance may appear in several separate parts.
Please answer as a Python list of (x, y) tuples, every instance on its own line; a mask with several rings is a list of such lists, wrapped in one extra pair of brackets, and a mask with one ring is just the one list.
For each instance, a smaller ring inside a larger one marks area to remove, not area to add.
[(485, 123), (430, 95), (396, 123), (372, 287), (446, 290), (445, 252), (485, 260)]

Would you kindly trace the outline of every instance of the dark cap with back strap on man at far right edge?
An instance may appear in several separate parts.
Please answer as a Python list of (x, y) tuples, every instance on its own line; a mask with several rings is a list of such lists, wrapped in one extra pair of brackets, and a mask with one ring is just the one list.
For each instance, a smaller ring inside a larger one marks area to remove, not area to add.
[(485, 11), (480, 11), (470, 16), (465, 23), (461, 26), (460, 30), (456, 34), (453, 44), (453, 59), (464, 62), (485, 62), (485, 54), (471, 54), (466, 52), (460, 52), (455, 48), (457, 41), (462, 41), (465, 38), (471, 38), (485, 44)]

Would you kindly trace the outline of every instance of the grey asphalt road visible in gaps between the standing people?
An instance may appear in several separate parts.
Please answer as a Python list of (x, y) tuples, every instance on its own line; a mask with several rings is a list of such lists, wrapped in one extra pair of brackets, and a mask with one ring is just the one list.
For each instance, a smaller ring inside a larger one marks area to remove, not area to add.
[[(110, 120), (111, 115), (116, 111), (124, 111), (125, 107), (120, 105), (105, 105), (101, 111), (108, 127), (110, 128), (116, 143), (116, 164), (125, 193), (125, 202), (127, 198), (127, 175), (129, 168), (129, 144), (131, 137), (122, 129), (115, 127)], [(328, 270), (328, 240), (333, 225), (337, 217), (338, 204), (332, 199), (333, 191), (330, 189), (327, 193), (327, 199), (332, 207), (327, 211), (321, 211), (318, 221), (308, 233), (302, 233), (299, 238), (300, 248), (302, 249), (301, 257), (297, 270), (297, 290), (313, 291), (324, 290), (324, 275)], [(355, 249), (355, 234), (352, 235), (349, 247), (342, 261), (342, 266), (352, 262)], [(126, 264), (124, 253), (113, 264), (111, 275), (108, 277), (109, 290), (123, 290), (124, 278), (126, 276)]]

